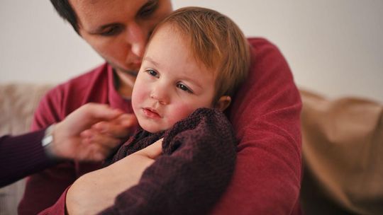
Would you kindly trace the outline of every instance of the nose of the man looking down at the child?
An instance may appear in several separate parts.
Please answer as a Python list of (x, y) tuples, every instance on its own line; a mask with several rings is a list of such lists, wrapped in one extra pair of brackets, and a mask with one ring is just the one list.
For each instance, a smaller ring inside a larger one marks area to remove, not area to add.
[(148, 40), (148, 33), (138, 25), (138, 23), (132, 22), (128, 25), (128, 32), (126, 40), (131, 44), (131, 51), (136, 57), (143, 57), (146, 42)]

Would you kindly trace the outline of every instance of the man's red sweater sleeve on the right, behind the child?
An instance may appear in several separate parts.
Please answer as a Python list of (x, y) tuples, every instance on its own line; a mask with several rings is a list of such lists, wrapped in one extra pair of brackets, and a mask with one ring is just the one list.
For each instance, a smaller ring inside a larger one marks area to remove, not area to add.
[(212, 214), (300, 214), (301, 98), (277, 47), (250, 39), (248, 79), (229, 111), (238, 144), (231, 185)]

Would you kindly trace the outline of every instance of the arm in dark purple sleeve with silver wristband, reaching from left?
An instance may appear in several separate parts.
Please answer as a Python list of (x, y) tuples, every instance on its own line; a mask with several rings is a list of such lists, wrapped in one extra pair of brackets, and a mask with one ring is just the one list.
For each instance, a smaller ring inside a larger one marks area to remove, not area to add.
[[(48, 129), (20, 136), (0, 137), (0, 187), (64, 160), (102, 161), (119, 144), (109, 132), (91, 129), (116, 118), (134, 124), (135, 117), (107, 105), (87, 104)], [(103, 120), (106, 120), (102, 122)], [(116, 127), (122, 127), (115, 124)], [(98, 140), (88, 137), (98, 136)]]

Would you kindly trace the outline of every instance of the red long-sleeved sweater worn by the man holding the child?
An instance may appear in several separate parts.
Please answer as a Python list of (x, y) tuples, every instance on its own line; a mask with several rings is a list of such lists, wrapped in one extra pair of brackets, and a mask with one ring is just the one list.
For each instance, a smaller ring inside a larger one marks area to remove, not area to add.
[[(299, 91), (275, 45), (262, 38), (250, 38), (249, 42), (252, 63), (248, 79), (226, 112), (239, 140), (235, 170), (212, 214), (300, 214)], [(59, 122), (89, 102), (132, 112), (130, 101), (123, 100), (113, 87), (111, 66), (104, 64), (53, 88), (35, 112), (33, 129)], [(62, 193), (79, 175), (96, 168), (99, 166), (62, 163), (33, 175), (26, 184), (19, 214), (38, 214), (53, 204), (52, 211), (63, 213)]]

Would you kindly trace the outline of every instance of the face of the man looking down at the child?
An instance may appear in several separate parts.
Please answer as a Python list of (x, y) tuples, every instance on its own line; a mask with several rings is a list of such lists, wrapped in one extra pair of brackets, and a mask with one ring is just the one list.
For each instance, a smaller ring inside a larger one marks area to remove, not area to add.
[(137, 74), (155, 25), (172, 12), (170, 0), (70, 0), (79, 34), (113, 68)]

